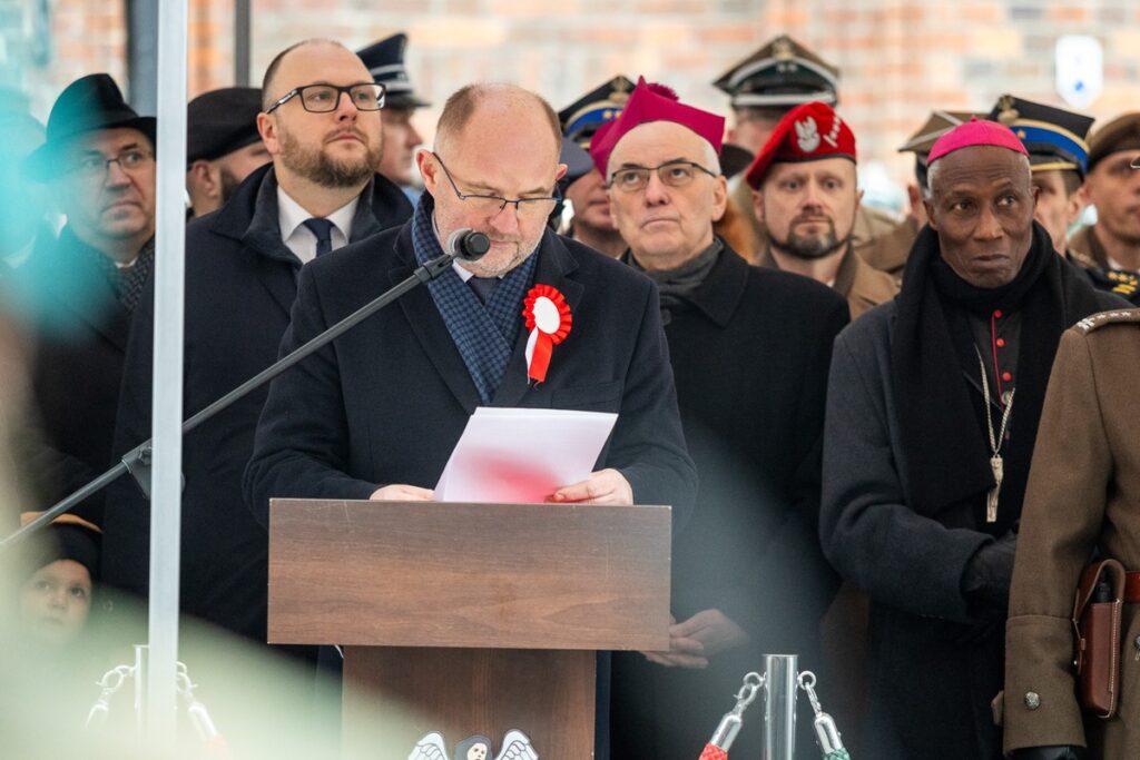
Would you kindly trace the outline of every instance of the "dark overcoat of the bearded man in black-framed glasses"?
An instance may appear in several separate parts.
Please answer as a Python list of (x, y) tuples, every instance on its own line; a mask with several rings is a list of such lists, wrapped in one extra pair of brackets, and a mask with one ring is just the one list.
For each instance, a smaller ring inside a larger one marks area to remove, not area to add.
[[(410, 213), (399, 188), (376, 175), (361, 196), (352, 240), (402, 223)], [(277, 358), (301, 262), (282, 242), (271, 166), (247, 178), (215, 213), (193, 221), (186, 236), (184, 406), (190, 415)], [(152, 286), (127, 357), (119, 452), (150, 438), (153, 301)], [(267, 392), (252, 392), (182, 444), (181, 608), (259, 641), (266, 635), (268, 546), (245, 506), (242, 473)], [(144, 594), (150, 512), (129, 479), (113, 487), (105, 522), (104, 580)]]

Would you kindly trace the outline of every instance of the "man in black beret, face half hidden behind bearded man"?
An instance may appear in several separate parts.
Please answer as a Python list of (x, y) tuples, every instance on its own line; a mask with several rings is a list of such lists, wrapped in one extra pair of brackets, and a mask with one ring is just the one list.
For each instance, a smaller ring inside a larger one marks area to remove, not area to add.
[(220, 207), (269, 162), (258, 133), (261, 90), (227, 87), (190, 100), (186, 116), (186, 191), (195, 216)]

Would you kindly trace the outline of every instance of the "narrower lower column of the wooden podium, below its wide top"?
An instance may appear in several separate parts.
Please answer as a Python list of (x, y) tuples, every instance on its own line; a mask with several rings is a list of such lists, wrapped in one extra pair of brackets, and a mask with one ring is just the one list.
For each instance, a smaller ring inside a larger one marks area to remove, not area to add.
[[(407, 760), (433, 730), (442, 732), (449, 753), (474, 734), (498, 751), (504, 734), (518, 728), (543, 760), (588, 760), (595, 656), (572, 649), (345, 647), (344, 757)], [(377, 736), (376, 711), (396, 704), (408, 717)]]

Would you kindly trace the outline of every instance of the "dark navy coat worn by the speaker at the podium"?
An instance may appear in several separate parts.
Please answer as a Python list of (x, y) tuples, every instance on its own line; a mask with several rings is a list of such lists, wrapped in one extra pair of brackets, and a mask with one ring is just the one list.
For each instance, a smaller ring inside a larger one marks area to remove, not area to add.
[[(496, 407), (618, 412), (598, 467), (614, 467), (638, 504), (674, 507), (679, 528), (697, 476), (677, 412), (657, 288), (643, 275), (547, 232), (536, 283), (557, 288), (573, 328), (531, 385), (526, 333)], [(320, 259), (301, 272), (287, 353), (408, 277), (410, 224)], [(521, 314), (519, 317), (522, 319)], [(421, 287), (274, 381), (245, 492), (267, 521), (271, 497), (367, 499), (377, 487), (434, 488), (479, 395), (427, 288)]]

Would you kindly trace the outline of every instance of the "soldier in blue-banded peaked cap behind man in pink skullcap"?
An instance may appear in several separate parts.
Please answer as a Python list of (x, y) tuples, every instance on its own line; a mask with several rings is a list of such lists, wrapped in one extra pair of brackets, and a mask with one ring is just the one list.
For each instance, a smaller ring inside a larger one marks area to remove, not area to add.
[(1085, 137), (1092, 117), (1003, 95), (990, 112), (990, 119), (1012, 129), (1029, 152), (1033, 186), (1037, 189), (1033, 218), (1049, 232), (1057, 253), (1084, 269), (1098, 289), (1137, 299), (1134, 275), (1106, 271), (1068, 245), (1069, 228), (1084, 211), (1081, 183), (1089, 161)]

